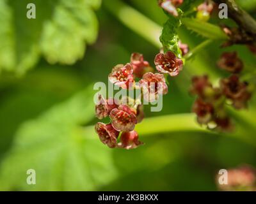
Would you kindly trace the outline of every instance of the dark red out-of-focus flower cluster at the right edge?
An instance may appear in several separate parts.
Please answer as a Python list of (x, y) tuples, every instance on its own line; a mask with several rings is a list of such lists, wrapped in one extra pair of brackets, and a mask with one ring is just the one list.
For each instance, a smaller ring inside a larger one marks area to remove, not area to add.
[(237, 74), (243, 69), (243, 62), (236, 52), (223, 53), (217, 64), (232, 75), (222, 78), (219, 87), (213, 87), (206, 75), (193, 77), (190, 92), (198, 96), (193, 105), (193, 112), (196, 113), (199, 124), (206, 124), (208, 128), (221, 131), (230, 131), (232, 123), (225, 111), (225, 104), (229, 103), (236, 109), (246, 108), (252, 90), (246, 82), (239, 80)]

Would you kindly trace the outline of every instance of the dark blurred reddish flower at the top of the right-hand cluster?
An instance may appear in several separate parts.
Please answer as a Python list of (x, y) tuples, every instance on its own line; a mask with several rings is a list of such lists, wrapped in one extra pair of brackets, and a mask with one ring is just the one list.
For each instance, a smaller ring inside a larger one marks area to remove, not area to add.
[(243, 69), (243, 61), (239, 59), (237, 52), (224, 52), (217, 64), (231, 73), (239, 73)]

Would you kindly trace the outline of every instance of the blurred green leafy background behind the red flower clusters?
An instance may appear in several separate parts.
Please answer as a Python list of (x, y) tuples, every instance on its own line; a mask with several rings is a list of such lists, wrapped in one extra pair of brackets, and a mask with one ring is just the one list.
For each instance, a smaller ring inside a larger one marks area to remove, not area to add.
[[(26, 18), (28, 3), (35, 3), (36, 19)], [(256, 1), (237, 3), (256, 17)], [(225, 77), (216, 68), (223, 51), (236, 50), (253, 80), (255, 55), (244, 46), (216, 42), (188, 61), (170, 80), (163, 110), (145, 107), (156, 126), (150, 134), (147, 119), (141, 123), (145, 145), (108, 149), (94, 133), (93, 84), (107, 83), (132, 52), (154, 64), (159, 47), (152, 38), (165, 21), (156, 0), (0, 0), (0, 190), (216, 191), (220, 169), (256, 166), (255, 96), (248, 110), (230, 111), (234, 133), (193, 131), (180, 120), (195, 100), (188, 94), (192, 75)], [(184, 27), (179, 35), (190, 48), (204, 41)], [(179, 127), (157, 131), (163, 115), (172, 118), (166, 126), (174, 119)], [(29, 169), (36, 185), (26, 183)]]

